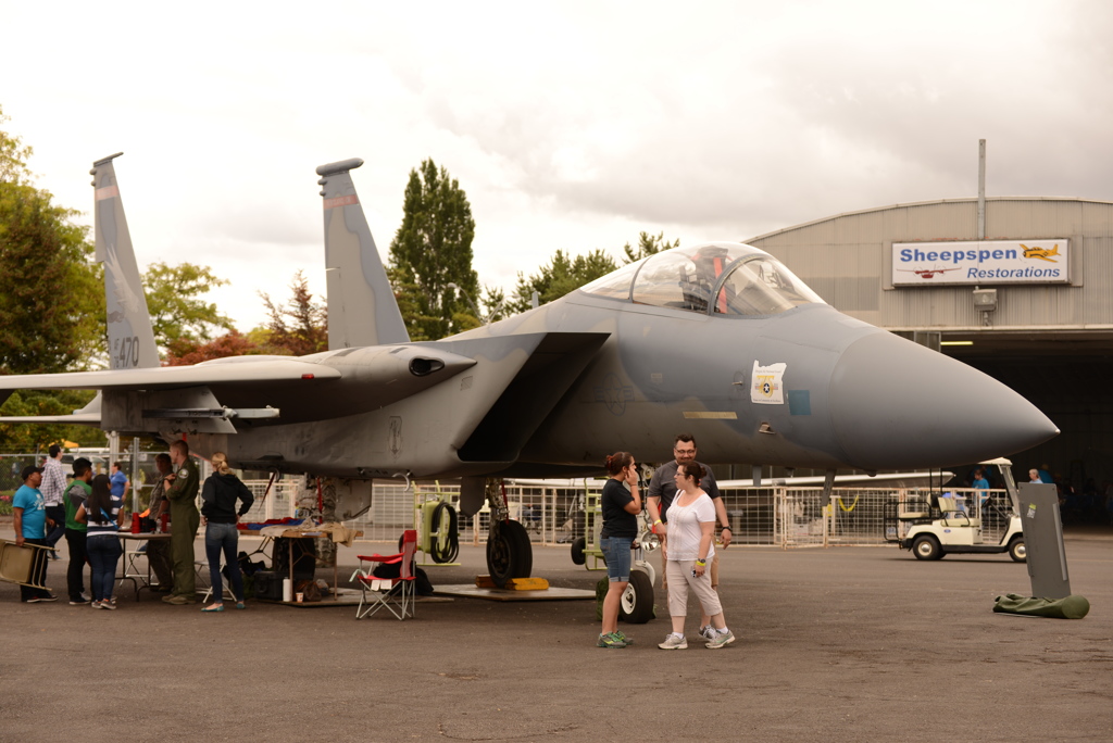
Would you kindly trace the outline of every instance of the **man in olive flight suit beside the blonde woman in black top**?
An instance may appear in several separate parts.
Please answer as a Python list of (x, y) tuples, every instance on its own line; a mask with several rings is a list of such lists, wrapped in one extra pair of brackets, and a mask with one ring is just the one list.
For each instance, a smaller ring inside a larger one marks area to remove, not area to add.
[(170, 502), (170, 553), (174, 556), (174, 592), (162, 596), (167, 604), (196, 604), (194, 583), (194, 539), (201, 515), (197, 513), (197, 491), (201, 476), (189, 458), (189, 445), (170, 444), (170, 460), (175, 470), (164, 478), (166, 499)]

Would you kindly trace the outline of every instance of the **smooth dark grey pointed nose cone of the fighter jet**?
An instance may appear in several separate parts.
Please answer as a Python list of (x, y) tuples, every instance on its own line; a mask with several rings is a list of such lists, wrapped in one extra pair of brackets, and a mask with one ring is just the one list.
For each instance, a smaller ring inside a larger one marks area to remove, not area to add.
[(981, 462), (1058, 434), (1047, 416), (977, 369), (888, 333), (843, 353), (830, 385), (833, 426), (863, 469)]

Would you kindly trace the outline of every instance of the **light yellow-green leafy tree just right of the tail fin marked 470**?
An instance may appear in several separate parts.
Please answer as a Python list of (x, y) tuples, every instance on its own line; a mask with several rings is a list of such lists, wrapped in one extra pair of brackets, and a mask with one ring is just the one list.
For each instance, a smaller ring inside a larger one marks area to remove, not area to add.
[(150, 314), (155, 341), (169, 349), (179, 340), (205, 344), (218, 329), (232, 331), (232, 319), (201, 296), (227, 280), (218, 278), (208, 266), (165, 262), (151, 264), (144, 274), (144, 293)]

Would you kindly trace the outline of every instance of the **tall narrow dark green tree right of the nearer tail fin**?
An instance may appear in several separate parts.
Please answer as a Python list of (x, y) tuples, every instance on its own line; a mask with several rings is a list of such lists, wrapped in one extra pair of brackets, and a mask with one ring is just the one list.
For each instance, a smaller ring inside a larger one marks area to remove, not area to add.
[(437, 169), (432, 159), (421, 164), (420, 175), (411, 170), (402, 226), (391, 242), (394, 290), (405, 299), (400, 309), (411, 339), (435, 340), (466, 325), (457, 315), (467, 314), (467, 303), (449, 285), (473, 300), (479, 296), (472, 269), (474, 236), (467, 196), (449, 171)]

